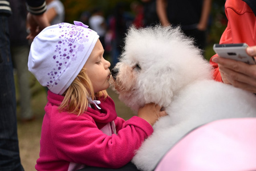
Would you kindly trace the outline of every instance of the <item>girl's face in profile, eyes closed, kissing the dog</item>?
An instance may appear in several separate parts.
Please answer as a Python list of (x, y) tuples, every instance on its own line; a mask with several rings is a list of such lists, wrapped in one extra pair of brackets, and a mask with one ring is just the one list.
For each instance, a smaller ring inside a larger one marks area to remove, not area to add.
[(103, 91), (109, 87), (110, 63), (103, 58), (103, 53), (104, 49), (98, 39), (91, 55), (84, 65), (86, 73), (92, 82), (92, 87), (94, 87), (95, 93)]

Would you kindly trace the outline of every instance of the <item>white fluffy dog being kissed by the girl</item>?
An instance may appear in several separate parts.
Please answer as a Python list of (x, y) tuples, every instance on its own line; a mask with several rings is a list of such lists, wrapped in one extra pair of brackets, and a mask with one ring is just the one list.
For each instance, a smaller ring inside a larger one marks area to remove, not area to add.
[(111, 84), (134, 111), (153, 102), (168, 113), (136, 152), (132, 162), (137, 168), (153, 170), (170, 147), (202, 124), (256, 116), (255, 95), (214, 81), (212, 71), (179, 28), (129, 29)]

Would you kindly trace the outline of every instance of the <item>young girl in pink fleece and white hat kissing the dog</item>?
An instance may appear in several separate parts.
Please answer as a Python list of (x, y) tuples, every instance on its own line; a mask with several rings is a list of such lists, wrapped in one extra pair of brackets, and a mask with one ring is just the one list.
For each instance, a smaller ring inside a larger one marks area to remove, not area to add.
[(74, 23), (47, 27), (31, 44), (29, 70), (49, 89), (35, 168), (120, 168), (166, 113), (159, 105), (147, 104), (127, 121), (117, 117), (105, 91), (110, 63), (103, 58), (99, 36)]

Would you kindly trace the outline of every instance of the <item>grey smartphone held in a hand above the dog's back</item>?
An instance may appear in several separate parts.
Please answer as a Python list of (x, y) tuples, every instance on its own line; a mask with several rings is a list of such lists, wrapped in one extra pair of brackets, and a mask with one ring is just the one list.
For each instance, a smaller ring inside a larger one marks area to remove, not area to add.
[(247, 55), (247, 47), (246, 43), (214, 44), (213, 50), (222, 58), (238, 60), (247, 64), (256, 64), (254, 58)]

